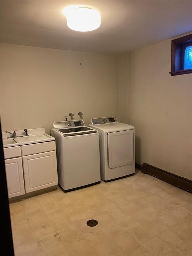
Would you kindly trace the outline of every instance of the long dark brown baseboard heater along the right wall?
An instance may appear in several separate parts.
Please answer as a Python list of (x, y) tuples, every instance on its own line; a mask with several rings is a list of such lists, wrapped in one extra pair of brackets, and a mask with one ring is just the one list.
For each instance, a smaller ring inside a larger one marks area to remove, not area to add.
[(171, 185), (174, 185), (178, 188), (182, 188), (190, 193), (192, 193), (192, 181), (171, 172), (164, 171), (155, 166), (143, 163), (141, 168), (142, 173), (147, 173), (152, 175), (160, 180), (163, 180)]

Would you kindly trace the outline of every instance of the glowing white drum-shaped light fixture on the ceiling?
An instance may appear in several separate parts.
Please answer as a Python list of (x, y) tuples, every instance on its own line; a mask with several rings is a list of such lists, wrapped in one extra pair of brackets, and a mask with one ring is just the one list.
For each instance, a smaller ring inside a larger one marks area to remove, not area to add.
[(75, 31), (92, 31), (101, 25), (100, 13), (91, 8), (68, 8), (67, 11), (63, 10), (63, 13), (67, 18), (67, 26)]

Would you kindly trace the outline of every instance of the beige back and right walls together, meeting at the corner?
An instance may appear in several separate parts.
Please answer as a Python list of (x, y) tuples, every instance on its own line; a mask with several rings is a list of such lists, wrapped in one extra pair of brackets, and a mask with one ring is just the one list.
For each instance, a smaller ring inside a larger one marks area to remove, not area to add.
[[(117, 116), (136, 129), (136, 162), (192, 180), (192, 75), (171, 76), (171, 40), (113, 55), (1, 44), (2, 129), (65, 114)], [(80, 65), (81, 63), (81, 65)], [(119, 88), (118, 88), (119, 83)]]

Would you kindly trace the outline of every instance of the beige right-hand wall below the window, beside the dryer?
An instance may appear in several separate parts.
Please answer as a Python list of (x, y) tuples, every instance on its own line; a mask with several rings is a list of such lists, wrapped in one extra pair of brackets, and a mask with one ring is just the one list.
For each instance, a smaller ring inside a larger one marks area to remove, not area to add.
[(171, 76), (171, 40), (120, 56), (120, 121), (135, 126), (136, 162), (192, 180), (192, 75)]

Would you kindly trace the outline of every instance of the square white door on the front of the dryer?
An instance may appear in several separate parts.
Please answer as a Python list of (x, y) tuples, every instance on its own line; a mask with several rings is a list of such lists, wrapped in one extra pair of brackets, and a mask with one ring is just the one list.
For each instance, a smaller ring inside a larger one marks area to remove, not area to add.
[(133, 150), (133, 130), (108, 133), (109, 168), (133, 163)]

